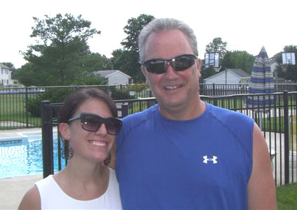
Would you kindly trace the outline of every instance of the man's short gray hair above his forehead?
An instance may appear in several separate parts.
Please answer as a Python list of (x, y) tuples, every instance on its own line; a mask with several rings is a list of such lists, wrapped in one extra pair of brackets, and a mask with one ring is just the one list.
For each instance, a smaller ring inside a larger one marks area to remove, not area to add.
[(150, 36), (151, 33), (157, 33), (160, 31), (166, 30), (180, 30), (186, 36), (189, 37), (189, 42), (191, 45), (194, 54), (198, 57), (198, 49), (197, 49), (197, 40), (194, 31), (189, 27), (189, 25), (185, 24), (180, 20), (175, 20), (173, 18), (159, 18), (152, 20), (149, 24), (147, 24), (140, 31), (138, 36), (138, 48), (139, 48), (139, 61), (143, 63), (145, 60), (145, 43), (147, 41), (147, 37)]

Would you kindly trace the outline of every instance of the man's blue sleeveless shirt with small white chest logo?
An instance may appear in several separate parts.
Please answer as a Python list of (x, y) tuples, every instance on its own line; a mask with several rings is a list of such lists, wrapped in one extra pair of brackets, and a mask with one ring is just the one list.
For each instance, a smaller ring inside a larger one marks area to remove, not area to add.
[(124, 209), (247, 209), (254, 121), (206, 103), (173, 121), (159, 105), (124, 119), (116, 172)]

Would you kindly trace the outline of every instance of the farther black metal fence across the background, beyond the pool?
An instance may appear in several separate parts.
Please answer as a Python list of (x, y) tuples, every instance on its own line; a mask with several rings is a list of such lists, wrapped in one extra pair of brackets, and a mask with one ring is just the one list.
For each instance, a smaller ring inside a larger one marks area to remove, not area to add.
[[(152, 97), (152, 92), (145, 84), (80, 87), (97, 87), (110, 93), (114, 100)], [(80, 87), (0, 88), (0, 130), (41, 128), (40, 102), (50, 100), (51, 103), (61, 103), (69, 93)], [(199, 92), (203, 96), (246, 94), (247, 89), (247, 84), (199, 85)], [(275, 84), (275, 90), (297, 91), (297, 84)]]

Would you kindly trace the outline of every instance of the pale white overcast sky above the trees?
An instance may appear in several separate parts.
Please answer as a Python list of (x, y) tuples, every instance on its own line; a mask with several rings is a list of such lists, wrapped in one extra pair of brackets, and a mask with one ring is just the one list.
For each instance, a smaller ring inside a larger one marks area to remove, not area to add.
[(20, 51), (35, 44), (30, 38), (33, 17), (44, 19), (57, 13), (82, 15), (101, 31), (89, 39), (92, 52), (111, 57), (126, 33), (131, 17), (140, 14), (172, 17), (189, 24), (194, 30), (199, 58), (205, 46), (220, 37), (227, 50), (245, 50), (259, 54), (264, 46), (268, 57), (282, 52), (285, 45), (297, 45), (296, 0), (10, 0), (0, 3), (0, 62), (11, 62), (15, 68), (27, 63)]

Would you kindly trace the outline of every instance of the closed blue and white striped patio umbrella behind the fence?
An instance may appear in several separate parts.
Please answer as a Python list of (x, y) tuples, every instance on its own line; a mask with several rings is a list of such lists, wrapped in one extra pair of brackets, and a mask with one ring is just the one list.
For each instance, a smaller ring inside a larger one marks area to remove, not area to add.
[[(270, 69), (270, 59), (265, 47), (261, 48), (259, 55), (254, 61), (252, 75), (249, 80), (248, 93), (273, 93), (275, 92), (273, 73)], [(254, 107), (256, 111), (263, 112), (266, 108), (274, 104), (273, 96), (248, 96), (247, 107)]]

